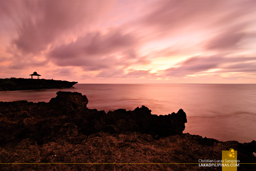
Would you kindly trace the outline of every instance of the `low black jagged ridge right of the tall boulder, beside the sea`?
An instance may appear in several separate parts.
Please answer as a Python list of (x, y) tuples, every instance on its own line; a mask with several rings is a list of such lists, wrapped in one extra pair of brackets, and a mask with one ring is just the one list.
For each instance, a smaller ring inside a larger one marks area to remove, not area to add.
[(146, 106), (137, 107), (133, 111), (118, 109), (109, 111), (107, 114), (91, 109), (83, 112), (83, 118), (86, 119), (87, 124), (82, 125), (81, 132), (87, 136), (100, 131), (110, 134), (131, 131), (149, 134), (159, 139), (182, 133), (187, 123), (186, 113), (182, 109), (177, 113), (164, 116), (151, 114), (151, 110)]

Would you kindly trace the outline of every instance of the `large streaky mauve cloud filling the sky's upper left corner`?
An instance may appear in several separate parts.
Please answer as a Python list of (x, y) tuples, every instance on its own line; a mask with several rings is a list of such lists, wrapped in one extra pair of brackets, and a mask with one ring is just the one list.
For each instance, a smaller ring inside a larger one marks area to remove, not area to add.
[(25, 0), (15, 3), (5, 2), (1, 15), (16, 23), (18, 38), (12, 42), (23, 53), (38, 53), (64, 33), (90, 26), (106, 5), (103, 0), (75, 0), (72, 3), (67, 0)]

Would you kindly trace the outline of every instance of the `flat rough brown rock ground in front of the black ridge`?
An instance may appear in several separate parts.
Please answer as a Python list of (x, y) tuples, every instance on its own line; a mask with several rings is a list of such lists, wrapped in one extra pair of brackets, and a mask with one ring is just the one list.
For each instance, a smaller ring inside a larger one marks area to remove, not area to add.
[[(240, 160), (240, 163), (256, 162), (255, 156), (241, 152), (240, 146), (243, 144), (237, 141), (218, 141), (209, 148), (207, 145), (197, 143), (197, 140), (202, 139), (201, 136), (190, 135), (189, 133), (163, 137), (159, 140), (154, 139), (151, 135), (143, 135), (138, 132), (125, 132), (113, 135), (98, 132), (81, 138), (76, 131), (76, 127), (70, 124), (63, 125), (57, 133), (60, 133), (63, 138), (55, 139), (42, 145), (37, 144), (33, 139), (26, 138), (18, 143), (10, 142), (1, 146), (0, 162), (88, 164), (2, 164), (0, 166), (1, 170), (221, 171), (221, 167), (160, 163), (199, 163), (199, 159), (221, 160), (222, 150), (229, 150), (230, 147), (239, 152), (238, 160)], [(68, 135), (71, 135), (72, 138)], [(238, 170), (241, 171), (252, 171), (255, 169), (256, 167), (253, 164), (240, 164), (238, 167)]]

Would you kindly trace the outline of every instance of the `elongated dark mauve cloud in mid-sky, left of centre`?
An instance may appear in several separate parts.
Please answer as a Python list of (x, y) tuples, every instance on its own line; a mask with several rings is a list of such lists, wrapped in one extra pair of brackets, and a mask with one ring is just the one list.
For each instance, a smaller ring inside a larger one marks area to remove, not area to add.
[(50, 52), (53, 58), (74, 58), (79, 55), (107, 55), (127, 49), (135, 44), (132, 35), (121, 34), (120, 31), (110, 31), (102, 35), (100, 32), (88, 33), (75, 42), (54, 48)]

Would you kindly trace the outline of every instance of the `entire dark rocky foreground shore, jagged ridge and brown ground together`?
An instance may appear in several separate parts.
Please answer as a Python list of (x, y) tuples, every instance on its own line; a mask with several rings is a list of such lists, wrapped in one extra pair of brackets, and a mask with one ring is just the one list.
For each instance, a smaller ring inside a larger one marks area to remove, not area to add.
[[(182, 109), (165, 116), (145, 106), (105, 113), (88, 109), (87, 103), (77, 92), (57, 92), (49, 103), (0, 102), (0, 163), (30, 163), (0, 164), (0, 170), (222, 170), (159, 163), (221, 160), (222, 150), (230, 148), (238, 151), (240, 163), (256, 163), (256, 141), (182, 133), (187, 123)], [(256, 170), (256, 164), (240, 164), (238, 170)]]

